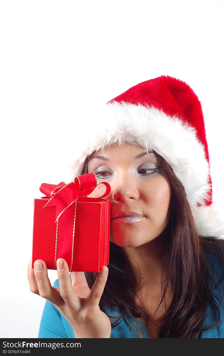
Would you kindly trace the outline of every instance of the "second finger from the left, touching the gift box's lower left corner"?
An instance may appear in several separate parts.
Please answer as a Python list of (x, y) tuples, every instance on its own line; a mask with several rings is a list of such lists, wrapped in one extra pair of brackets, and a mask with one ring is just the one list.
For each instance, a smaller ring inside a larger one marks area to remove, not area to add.
[(43, 260), (36, 260), (34, 262), (34, 276), (37, 281), (39, 295), (42, 298), (49, 300), (49, 302), (57, 306), (64, 304), (58, 289), (51, 286), (47, 275), (47, 266)]

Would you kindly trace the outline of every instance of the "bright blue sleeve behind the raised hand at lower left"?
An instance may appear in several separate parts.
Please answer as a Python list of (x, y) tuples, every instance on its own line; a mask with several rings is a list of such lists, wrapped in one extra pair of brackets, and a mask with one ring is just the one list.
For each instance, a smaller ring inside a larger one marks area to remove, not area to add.
[[(58, 287), (58, 280), (53, 284)], [(59, 310), (48, 300), (46, 300), (43, 314), (40, 321), (38, 338), (74, 338), (71, 325)]]

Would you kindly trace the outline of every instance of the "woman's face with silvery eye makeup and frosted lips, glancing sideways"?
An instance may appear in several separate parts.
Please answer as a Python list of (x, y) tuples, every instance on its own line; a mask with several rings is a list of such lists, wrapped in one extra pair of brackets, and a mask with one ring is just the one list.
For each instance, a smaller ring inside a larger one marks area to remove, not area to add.
[[(159, 156), (145, 152), (145, 148), (129, 144), (112, 145), (89, 158), (88, 173), (96, 174), (97, 184), (108, 182), (111, 186), (106, 197), (111, 199), (110, 240), (120, 247), (144, 245), (168, 224), (170, 184)], [(100, 184), (89, 197), (103, 191), (105, 187)], [(130, 211), (134, 216), (114, 218)]]

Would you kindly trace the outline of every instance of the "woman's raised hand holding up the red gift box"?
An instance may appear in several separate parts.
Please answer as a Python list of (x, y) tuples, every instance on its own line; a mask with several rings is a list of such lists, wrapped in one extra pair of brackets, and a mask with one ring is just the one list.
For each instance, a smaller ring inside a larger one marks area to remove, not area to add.
[(102, 266), (90, 290), (84, 272), (71, 272), (63, 258), (57, 260), (58, 287), (52, 287), (43, 260), (29, 264), (27, 276), (32, 293), (49, 300), (72, 326), (75, 338), (110, 337), (111, 323), (100, 310), (99, 302), (105, 287), (108, 268)]

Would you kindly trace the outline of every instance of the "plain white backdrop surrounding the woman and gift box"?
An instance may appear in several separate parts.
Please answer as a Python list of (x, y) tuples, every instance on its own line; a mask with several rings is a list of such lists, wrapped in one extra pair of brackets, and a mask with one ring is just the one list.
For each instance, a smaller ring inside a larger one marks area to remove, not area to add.
[(201, 100), (213, 200), (223, 201), (223, 15), (215, 0), (0, 2), (1, 337), (38, 336), (33, 199), (40, 183), (71, 181), (95, 105), (159, 75), (184, 80)]

